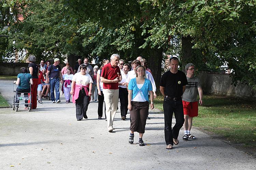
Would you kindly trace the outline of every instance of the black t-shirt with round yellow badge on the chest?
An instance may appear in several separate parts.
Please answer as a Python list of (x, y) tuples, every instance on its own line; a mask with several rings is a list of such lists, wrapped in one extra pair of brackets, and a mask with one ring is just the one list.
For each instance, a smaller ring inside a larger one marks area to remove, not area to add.
[(180, 70), (173, 74), (170, 70), (163, 73), (160, 86), (165, 87), (165, 95), (180, 98), (182, 96), (182, 87), (187, 85), (186, 74)]

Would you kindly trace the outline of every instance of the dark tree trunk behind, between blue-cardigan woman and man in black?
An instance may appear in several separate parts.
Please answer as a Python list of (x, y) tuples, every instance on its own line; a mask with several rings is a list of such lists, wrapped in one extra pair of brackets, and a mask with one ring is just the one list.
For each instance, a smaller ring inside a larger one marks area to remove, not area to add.
[(147, 66), (151, 70), (153, 78), (156, 83), (156, 91), (159, 91), (159, 84), (162, 75), (162, 56), (163, 50), (160, 49), (152, 49), (150, 50), (150, 55), (148, 56)]

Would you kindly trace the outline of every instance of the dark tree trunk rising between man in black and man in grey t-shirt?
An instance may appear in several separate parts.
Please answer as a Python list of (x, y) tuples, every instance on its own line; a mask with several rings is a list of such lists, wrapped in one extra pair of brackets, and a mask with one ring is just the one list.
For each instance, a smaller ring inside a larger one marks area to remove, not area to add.
[(193, 59), (193, 44), (191, 43), (192, 38), (188, 35), (186, 37), (182, 36), (181, 38), (182, 54), (181, 54), (181, 64), (182, 71), (185, 71), (185, 66), (187, 63), (191, 62)]

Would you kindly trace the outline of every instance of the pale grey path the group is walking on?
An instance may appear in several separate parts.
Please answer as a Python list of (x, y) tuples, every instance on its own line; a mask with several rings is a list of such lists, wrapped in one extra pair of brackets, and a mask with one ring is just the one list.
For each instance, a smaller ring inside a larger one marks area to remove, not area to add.
[[(0, 92), (13, 100), (12, 81), (0, 80)], [(228, 143), (193, 129), (196, 140), (165, 149), (163, 114), (150, 111), (143, 140), (128, 143), (130, 121), (115, 116), (113, 133), (98, 120), (97, 103), (90, 103), (88, 119), (76, 121), (73, 103), (43, 100), (31, 112), (0, 109), (0, 169), (256, 169), (256, 159)], [(129, 117), (129, 115), (128, 115)], [(173, 121), (174, 123), (174, 121)]]

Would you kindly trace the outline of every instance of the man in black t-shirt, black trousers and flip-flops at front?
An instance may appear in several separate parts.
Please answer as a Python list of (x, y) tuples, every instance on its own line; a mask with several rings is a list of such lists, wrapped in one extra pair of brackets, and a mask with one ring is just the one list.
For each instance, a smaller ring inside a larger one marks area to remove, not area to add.
[[(173, 143), (178, 145), (179, 131), (184, 123), (182, 94), (185, 91), (186, 74), (178, 70), (179, 60), (177, 57), (170, 58), (170, 70), (163, 73), (160, 82), (160, 92), (164, 96), (163, 112), (165, 115), (165, 141), (166, 149), (172, 149)], [(176, 123), (172, 128), (172, 115)]]

